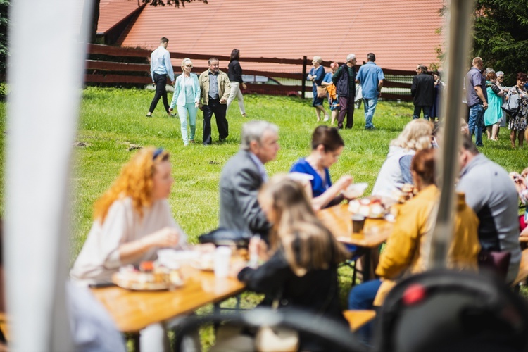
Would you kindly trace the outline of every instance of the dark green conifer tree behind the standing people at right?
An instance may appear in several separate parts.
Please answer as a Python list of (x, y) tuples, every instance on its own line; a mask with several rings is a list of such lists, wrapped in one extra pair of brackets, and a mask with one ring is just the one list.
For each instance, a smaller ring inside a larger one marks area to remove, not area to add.
[(528, 0), (477, 0), (475, 6), (473, 56), (515, 84), (517, 72), (528, 70)]

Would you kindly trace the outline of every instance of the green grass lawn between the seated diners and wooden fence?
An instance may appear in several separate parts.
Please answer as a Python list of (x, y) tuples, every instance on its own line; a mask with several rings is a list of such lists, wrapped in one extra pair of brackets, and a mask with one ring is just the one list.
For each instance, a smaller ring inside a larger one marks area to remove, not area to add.
[[(222, 165), (237, 153), (241, 125), (249, 119), (268, 120), (279, 126), (281, 150), (276, 161), (266, 164), (269, 175), (287, 172), (298, 158), (310, 152), (310, 137), (317, 126), (315, 109), (311, 101), (296, 97), (245, 96), (249, 118), (242, 118), (237, 103), (227, 113), (230, 137), (227, 142), (212, 146), (191, 144), (183, 146), (180, 121), (168, 118), (161, 101), (153, 118), (145, 114), (153, 92), (142, 89), (84, 89), (75, 146), (73, 175), (73, 232), (71, 234), (71, 263), (77, 257), (92, 225), (92, 205), (118, 176), (123, 163), (134, 151), (131, 145), (163, 146), (171, 154), (175, 184), (170, 195), (172, 214), (196, 243), (200, 234), (218, 226), (218, 182)], [(325, 103), (325, 107), (327, 104)], [(6, 130), (6, 103), (0, 103), (0, 123)], [(365, 131), (363, 106), (356, 111), (353, 130), (342, 130), (345, 149), (339, 162), (332, 166), (333, 180), (350, 174), (356, 182), (370, 184), (370, 193), (381, 167), (389, 142), (395, 138), (412, 118), (412, 103), (381, 101), (374, 117), (375, 131)], [(203, 115), (199, 112), (196, 123), (196, 141), (202, 138)], [(508, 130), (500, 134), (499, 142), (488, 142), (484, 137), (481, 151), (506, 170), (520, 171), (528, 165), (527, 149), (510, 148)], [(213, 122), (213, 140), (218, 131)], [(1, 139), (2, 146), (4, 139)], [(4, 169), (4, 153), (0, 154), (0, 167)], [(4, 177), (4, 172), (1, 172)], [(2, 178), (3, 181), (3, 178)], [(4, 196), (1, 189), (0, 196)], [(3, 213), (3, 205), (0, 209)], [(350, 280), (344, 286), (347, 288)], [(345, 295), (346, 292), (343, 292)], [(246, 295), (246, 302), (254, 303), (254, 296)], [(204, 308), (208, 310), (209, 308)], [(210, 339), (207, 335), (205, 339)]]

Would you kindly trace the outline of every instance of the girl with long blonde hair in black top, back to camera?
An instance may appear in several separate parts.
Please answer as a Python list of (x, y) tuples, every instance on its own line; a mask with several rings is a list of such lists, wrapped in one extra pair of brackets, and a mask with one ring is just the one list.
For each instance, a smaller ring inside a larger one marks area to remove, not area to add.
[[(348, 258), (348, 252), (315, 216), (303, 186), (277, 175), (260, 190), (258, 203), (272, 223), (271, 251), (260, 251), (265, 263), (242, 269), (239, 280), (278, 300), (278, 309), (308, 310), (346, 325), (337, 265)], [(250, 246), (263, 248), (260, 241), (251, 241)], [(300, 343), (299, 351), (325, 351), (325, 346), (302, 336)]]

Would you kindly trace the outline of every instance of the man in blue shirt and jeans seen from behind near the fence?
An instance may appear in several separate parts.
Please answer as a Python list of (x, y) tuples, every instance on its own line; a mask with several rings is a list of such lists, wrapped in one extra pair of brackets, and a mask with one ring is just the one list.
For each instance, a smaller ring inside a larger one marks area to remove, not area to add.
[(383, 70), (374, 63), (376, 56), (367, 54), (367, 63), (361, 66), (356, 76), (356, 82), (361, 84), (363, 101), (365, 102), (365, 130), (374, 130), (372, 118), (376, 111), (377, 99), (382, 96)]

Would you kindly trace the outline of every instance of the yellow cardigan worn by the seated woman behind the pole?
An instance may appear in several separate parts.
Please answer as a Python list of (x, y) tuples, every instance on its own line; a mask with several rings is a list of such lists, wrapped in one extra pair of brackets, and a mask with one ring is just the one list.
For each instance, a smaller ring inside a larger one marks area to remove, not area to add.
[[(399, 208), (394, 230), (376, 268), (376, 274), (383, 280), (374, 301), (376, 306), (382, 304), (386, 294), (396, 284), (392, 280), (427, 269), (429, 243), (426, 239), (430, 241), (429, 232), (432, 231), (433, 220), (429, 216), (439, 197), (439, 189), (431, 185)], [(477, 271), (480, 251), (477, 234), (479, 219), (465, 203), (464, 194), (458, 194), (456, 206), (455, 233), (448, 251), (447, 266), (457, 270)]]

